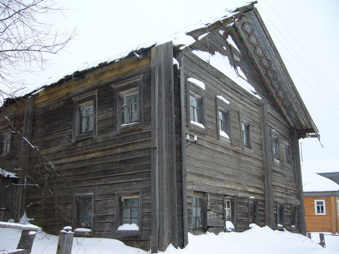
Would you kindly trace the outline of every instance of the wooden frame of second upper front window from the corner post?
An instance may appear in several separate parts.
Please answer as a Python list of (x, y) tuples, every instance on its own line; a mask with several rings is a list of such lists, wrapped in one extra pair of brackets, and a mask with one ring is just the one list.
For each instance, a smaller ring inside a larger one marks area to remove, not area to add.
[[(228, 137), (230, 137), (229, 139), (227, 139), (227, 137), (223, 137), (220, 135), (220, 119), (219, 119), (219, 111), (223, 112), (225, 114), (225, 118), (226, 118), (226, 122), (225, 122), (225, 126), (226, 126), (226, 134), (228, 135)], [(233, 144), (233, 137), (232, 137), (232, 107), (230, 104), (222, 101), (220, 98), (216, 97), (216, 113), (217, 113), (217, 135), (218, 135), (218, 139), (231, 143)], [(227, 133), (228, 131), (228, 133)]]

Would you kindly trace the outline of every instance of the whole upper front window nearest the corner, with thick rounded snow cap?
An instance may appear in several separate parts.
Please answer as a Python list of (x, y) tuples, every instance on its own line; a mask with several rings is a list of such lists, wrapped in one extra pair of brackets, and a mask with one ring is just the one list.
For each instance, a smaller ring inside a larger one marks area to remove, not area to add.
[(188, 78), (186, 91), (187, 126), (206, 134), (205, 85), (199, 80)]

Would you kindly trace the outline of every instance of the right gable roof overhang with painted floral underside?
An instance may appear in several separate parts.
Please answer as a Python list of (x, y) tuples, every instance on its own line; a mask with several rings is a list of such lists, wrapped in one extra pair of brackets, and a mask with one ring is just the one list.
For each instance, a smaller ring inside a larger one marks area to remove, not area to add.
[[(246, 9), (233, 25), (248, 57), (278, 111), (299, 137), (320, 137), (256, 8)], [(239, 11), (237, 9), (236, 11)]]

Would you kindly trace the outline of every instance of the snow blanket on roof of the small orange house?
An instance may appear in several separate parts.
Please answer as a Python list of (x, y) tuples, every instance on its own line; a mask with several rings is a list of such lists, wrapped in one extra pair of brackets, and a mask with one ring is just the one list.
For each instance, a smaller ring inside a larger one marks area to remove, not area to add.
[(313, 172), (302, 171), (304, 192), (339, 191), (339, 185), (332, 180)]

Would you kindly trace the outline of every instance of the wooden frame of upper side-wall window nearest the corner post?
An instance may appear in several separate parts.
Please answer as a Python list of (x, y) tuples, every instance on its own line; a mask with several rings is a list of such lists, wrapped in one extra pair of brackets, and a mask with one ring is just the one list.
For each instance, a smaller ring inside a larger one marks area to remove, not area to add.
[[(137, 75), (119, 82), (111, 84), (114, 97), (114, 131), (126, 131), (132, 128), (142, 128), (144, 126), (144, 96), (143, 96), (143, 76)], [(123, 98), (128, 94), (138, 92), (139, 97), (139, 121), (124, 123)]]

